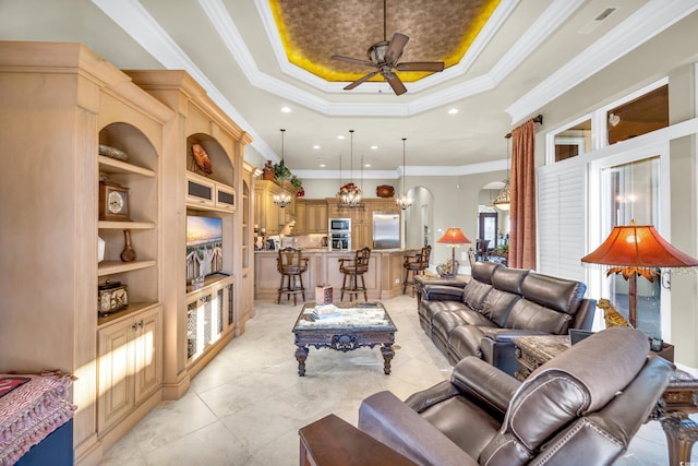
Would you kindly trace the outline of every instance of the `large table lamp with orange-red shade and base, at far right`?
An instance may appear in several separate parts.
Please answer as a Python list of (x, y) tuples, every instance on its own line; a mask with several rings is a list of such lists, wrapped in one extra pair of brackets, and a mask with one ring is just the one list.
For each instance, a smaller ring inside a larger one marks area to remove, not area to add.
[(650, 282), (660, 275), (658, 268), (695, 267), (698, 260), (671, 246), (652, 225), (616, 226), (609, 238), (592, 253), (581, 258), (585, 264), (607, 267), (606, 276), (623, 274), (629, 282), (628, 321), (637, 327), (637, 276)]

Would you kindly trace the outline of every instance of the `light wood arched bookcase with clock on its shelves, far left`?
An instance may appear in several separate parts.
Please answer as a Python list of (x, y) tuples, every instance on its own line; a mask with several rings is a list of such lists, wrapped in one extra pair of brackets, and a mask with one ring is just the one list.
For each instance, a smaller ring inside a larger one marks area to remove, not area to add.
[[(0, 327), (11, 331), (0, 339), (0, 370), (52, 368), (76, 377), (71, 399), (79, 406), (73, 442), (80, 464), (110, 446), (98, 432), (105, 426), (101, 394), (121, 390), (122, 380), (99, 380), (98, 368), (110, 355), (98, 348), (98, 284), (109, 278), (128, 285), (129, 307), (120, 315), (129, 319), (161, 306), (164, 128), (174, 113), (74, 43), (0, 44), (0, 136), (13, 155), (0, 186), (22, 200), (2, 206), (0, 246), (11, 254), (0, 265)], [(99, 155), (100, 144), (128, 159)], [(128, 188), (131, 222), (99, 220), (100, 174)], [(120, 259), (123, 229), (131, 230), (137, 255), (132, 262)], [(129, 343), (123, 333), (115, 336), (113, 356), (129, 353)], [(124, 362), (135, 366), (132, 356)], [(159, 370), (147, 369), (156, 380)], [(127, 404), (135, 404), (135, 392), (130, 396)], [(148, 385), (143, 396), (141, 406), (156, 405), (160, 385)], [(123, 415), (112, 430), (130, 429), (146, 413)]]

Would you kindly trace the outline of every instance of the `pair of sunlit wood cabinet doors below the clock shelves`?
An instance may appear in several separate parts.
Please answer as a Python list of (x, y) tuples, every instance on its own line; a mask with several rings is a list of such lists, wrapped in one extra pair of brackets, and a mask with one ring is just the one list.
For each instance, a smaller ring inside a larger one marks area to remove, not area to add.
[(97, 344), (97, 431), (104, 435), (161, 387), (161, 307), (100, 326)]

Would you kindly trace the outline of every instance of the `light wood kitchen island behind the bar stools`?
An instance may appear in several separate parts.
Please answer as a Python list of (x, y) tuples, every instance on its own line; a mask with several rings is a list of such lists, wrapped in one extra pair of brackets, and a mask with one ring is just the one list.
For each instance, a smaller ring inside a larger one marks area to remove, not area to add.
[[(308, 258), (308, 271), (303, 274), (305, 300), (315, 300), (315, 286), (327, 284), (334, 287), (335, 301), (339, 301), (344, 275), (339, 272), (339, 259), (353, 260), (353, 251), (330, 251), (327, 248), (303, 249)], [(402, 292), (406, 255), (414, 255), (419, 249), (372, 250), (369, 272), (364, 274), (369, 300), (388, 299)], [(276, 300), (281, 276), (276, 270), (278, 251), (254, 253), (254, 299)], [(286, 297), (281, 302), (286, 302)], [(348, 299), (345, 296), (345, 299)]]

